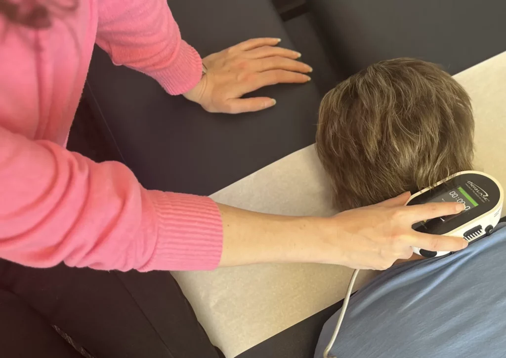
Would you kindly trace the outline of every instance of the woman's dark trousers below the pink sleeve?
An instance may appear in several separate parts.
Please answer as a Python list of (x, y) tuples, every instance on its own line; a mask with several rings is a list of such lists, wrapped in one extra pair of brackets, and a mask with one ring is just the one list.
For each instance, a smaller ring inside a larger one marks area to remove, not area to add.
[(218, 358), (170, 273), (0, 261), (1, 355), (73, 358), (80, 348), (94, 358)]

